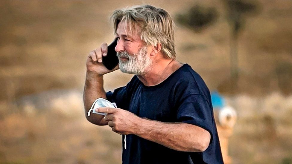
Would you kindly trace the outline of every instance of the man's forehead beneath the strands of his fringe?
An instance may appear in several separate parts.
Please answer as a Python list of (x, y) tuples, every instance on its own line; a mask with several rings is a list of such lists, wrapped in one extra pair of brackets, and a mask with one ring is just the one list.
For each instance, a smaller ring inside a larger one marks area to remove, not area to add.
[(141, 39), (141, 28), (137, 24), (133, 24), (133, 26), (130, 27), (130, 24), (125, 21), (118, 24), (116, 33), (118, 35), (127, 35), (133, 39)]

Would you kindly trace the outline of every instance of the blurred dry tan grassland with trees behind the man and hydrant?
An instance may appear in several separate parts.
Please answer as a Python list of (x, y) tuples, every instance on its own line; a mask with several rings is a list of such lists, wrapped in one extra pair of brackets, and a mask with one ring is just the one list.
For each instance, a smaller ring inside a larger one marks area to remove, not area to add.
[[(136, 4), (171, 14), (177, 59), (235, 109), (232, 163), (292, 163), (289, 0), (1, 0), (0, 163), (121, 163), (121, 136), (86, 120), (82, 93), (112, 11)], [(132, 76), (109, 73), (104, 87)]]

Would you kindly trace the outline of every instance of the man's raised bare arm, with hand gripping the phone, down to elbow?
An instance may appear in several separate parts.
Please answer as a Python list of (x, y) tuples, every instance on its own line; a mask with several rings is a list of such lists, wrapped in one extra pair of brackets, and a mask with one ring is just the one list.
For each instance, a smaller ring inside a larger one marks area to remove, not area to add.
[(118, 69), (116, 66), (113, 70), (108, 70), (101, 62), (102, 56), (107, 55), (107, 44), (103, 43), (101, 48), (95, 49), (89, 53), (86, 61), (86, 80), (83, 92), (83, 103), (85, 108), (86, 119), (95, 125), (107, 125), (103, 115), (90, 114), (87, 115), (92, 103), (102, 97), (106, 99), (104, 91), (103, 75)]

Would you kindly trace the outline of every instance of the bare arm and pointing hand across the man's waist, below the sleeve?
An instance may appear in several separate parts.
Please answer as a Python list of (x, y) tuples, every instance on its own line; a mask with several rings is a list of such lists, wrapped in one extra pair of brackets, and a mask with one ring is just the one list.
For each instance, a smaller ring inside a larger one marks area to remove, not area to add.
[(108, 113), (104, 119), (118, 134), (135, 134), (165, 147), (188, 152), (203, 152), (210, 143), (209, 131), (188, 123), (165, 123), (144, 119), (119, 108), (98, 108)]

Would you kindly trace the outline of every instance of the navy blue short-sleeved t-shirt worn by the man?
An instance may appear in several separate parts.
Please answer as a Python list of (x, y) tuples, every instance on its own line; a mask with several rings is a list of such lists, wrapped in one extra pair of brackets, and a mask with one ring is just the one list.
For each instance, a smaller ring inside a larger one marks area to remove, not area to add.
[(125, 149), (123, 135), (124, 164), (223, 163), (209, 89), (188, 64), (184, 64), (158, 85), (145, 86), (134, 76), (125, 87), (109, 91), (106, 95), (118, 108), (139, 117), (193, 124), (211, 134), (209, 147), (203, 152), (176, 151), (134, 134), (126, 136)]

